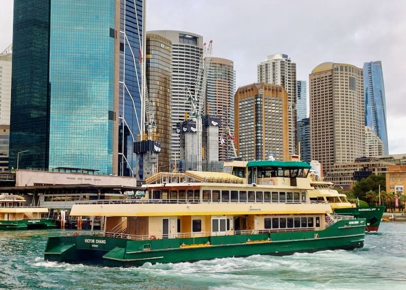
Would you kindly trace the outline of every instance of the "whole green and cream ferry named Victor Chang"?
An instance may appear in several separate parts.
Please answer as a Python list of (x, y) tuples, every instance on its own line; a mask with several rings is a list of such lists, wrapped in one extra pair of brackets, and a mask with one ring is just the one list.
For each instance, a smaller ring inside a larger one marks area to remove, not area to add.
[(45, 260), (126, 267), (363, 246), (365, 219), (310, 200), (309, 164), (235, 162), (230, 173), (159, 172), (139, 200), (73, 205), (71, 216), (101, 216), (101, 230), (50, 237)]

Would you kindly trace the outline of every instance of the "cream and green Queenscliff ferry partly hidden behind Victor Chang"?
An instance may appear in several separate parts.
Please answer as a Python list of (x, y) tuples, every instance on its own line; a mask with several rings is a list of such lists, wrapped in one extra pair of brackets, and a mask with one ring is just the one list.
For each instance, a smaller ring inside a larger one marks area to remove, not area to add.
[(310, 200), (327, 201), (336, 214), (353, 215), (355, 218), (366, 219), (366, 231), (378, 231), (385, 206), (359, 207), (350, 203), (345, 194), (334, 190), (332, 183), (316, 181), (312, 176), (310, 178), (310, 184), (314, 187), (314, 190), (309, 191)]

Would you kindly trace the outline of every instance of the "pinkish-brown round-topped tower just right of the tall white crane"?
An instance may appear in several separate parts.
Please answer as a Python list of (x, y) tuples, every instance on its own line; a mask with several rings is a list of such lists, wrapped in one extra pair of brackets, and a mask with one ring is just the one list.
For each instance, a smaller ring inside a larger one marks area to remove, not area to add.
[(207, 76), (207, 114), (221, 117), (219, 127), (219, 160), (234, 157), (227, 138), (228, 128), (234, 134), (235, 70), (231, 60), (210, 57)]

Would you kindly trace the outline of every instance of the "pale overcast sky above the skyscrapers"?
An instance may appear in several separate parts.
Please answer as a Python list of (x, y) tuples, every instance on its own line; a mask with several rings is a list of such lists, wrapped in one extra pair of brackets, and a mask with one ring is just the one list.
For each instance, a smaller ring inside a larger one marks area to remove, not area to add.
[[(12, 42), (13, 1), (0, 4), (2, 51)], [(147, 0), (146, 29), (213, 40), (213, 56), (234, 61), (237, 86), (256, 82), (257, 64), (273, 53), (288, 54), (306, 81), (324, 61), (362, 67), (381, 60), (389, 153), (397, 154), (406, 153), (405, 15), (404, 0)]]

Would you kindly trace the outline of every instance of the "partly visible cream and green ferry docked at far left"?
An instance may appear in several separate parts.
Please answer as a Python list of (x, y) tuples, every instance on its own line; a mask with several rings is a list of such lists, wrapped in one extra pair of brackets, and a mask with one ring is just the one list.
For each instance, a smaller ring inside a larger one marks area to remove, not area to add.
[(26, 206), (24, 197), (0, 195), (0, 230), (53, 229), (53, 220), (42, 218), (48, 208)]

